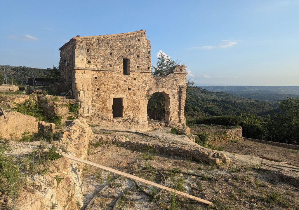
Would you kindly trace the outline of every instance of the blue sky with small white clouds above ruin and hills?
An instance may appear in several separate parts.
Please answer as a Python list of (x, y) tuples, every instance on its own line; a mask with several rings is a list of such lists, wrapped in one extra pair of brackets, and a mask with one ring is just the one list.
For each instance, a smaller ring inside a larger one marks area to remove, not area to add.
[(76, 35), (147, 30), (196, 85), (299, 85), (299, 1), (0, 2), (0, 64), (59, 65)]

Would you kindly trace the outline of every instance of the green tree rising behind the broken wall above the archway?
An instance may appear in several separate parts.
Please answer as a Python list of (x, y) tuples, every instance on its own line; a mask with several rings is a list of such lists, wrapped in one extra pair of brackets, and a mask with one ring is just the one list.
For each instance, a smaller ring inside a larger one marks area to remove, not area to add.
[(152, 73), (154, 76), (165, 76), (170, 72), (170, 67), (177, 65), (178, 60), (174, 61), (165, 53), (160, 52), (156, 65), (152, 65)]

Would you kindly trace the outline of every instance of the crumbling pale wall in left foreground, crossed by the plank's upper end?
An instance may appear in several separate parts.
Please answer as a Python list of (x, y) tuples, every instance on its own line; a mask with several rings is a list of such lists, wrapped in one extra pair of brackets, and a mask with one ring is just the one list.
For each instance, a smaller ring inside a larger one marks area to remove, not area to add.
[[(69, 121), (61, 133), (62, 138), (54, 142), (61, 151), (84, 159), (87, 154), (89, 140), (94, 134), (85, 119)], [(60, 136), (60, 134), (58, 134)], [(35, 145), (34, 142), (28, 142)], [(14, 149), (11, 154), (25, 157), (19, 154), (27, 151), (23, 143), (13, 142)], [(20, 148), (22, 148), (22, 150)], [(28, 153), (28, 151), (27, 151)], [(24, 190), (18, 200), (20, 210), (66, 210), (80, 209), (83, 206), (82, 180), (80, 178), (82, 164), (73, 160), (60, 157), (50, 162), (48, 172), (45, 175), (28, 175), (28, 186), (33, 189)], [(28, 189), (28, 188), (27, 188)], [(1, 203), (0, 203), (1, 209)]]

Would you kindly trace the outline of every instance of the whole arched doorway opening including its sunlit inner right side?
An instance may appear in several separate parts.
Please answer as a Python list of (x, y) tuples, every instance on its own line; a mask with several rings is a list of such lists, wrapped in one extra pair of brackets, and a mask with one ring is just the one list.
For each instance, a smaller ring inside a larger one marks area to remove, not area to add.
[(170, 97), (167, 93), (152, 93), (147, 102), (148, 121), (164, 121), (169, 123)]

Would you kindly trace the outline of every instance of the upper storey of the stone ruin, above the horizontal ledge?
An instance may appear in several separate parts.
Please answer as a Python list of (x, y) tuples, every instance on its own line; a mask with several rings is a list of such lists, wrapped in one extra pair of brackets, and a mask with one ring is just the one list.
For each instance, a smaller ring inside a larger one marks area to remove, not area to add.
[(59, 49), (61, 76), (73, 69), (150, 72), (151, 46), (145, 32), (73, 37)]

